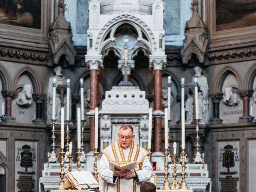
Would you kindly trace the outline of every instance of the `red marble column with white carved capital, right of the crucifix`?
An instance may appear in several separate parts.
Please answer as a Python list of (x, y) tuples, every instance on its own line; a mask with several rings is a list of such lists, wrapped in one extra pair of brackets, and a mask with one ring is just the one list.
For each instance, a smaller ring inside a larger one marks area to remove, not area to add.
[(154, 152), (162, 152), (162, 70), (166, 58), (150, 56), (150, 69), (154, 70)]

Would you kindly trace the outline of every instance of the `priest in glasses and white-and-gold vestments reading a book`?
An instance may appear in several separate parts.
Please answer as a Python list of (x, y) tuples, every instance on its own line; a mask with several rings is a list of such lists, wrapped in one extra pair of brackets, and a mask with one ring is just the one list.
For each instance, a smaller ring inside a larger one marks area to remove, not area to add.
[[(142, 182), (148, 181), (153, 169), (148, 159), (148, 152), (136, 144), (131, 125), (121, 126), (118, 141), (104, 149), (100, 156), (98, 173), (104, 184), (103, 192), (140, 192)], [(110, 170), (109, 162), (125, 164), (136, 161), (136, 170)]]

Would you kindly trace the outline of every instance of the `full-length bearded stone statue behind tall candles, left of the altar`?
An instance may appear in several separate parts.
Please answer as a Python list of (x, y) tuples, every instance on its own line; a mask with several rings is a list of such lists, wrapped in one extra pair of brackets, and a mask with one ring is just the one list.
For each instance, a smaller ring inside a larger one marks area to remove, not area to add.
[[(56, 66), (54, 68), (55, 76), (50, 77), (48, 85), (47, 85), (47, 120), (46, 124), (51, 124), (51, 119), (52, 119), (52, 81), (53, 78), (56, 78), (56, 84), (58, 85), (65, 85), (66, 84), (66, 78), (62, 76), (62, 68), (60, 66)], [(64, 94), (64, 108), (66, 111), (66, 94)], [(71, 91), (70, 91), (70, 117), (71, 117)], [(61, 105), (61, 96), (60, 94), (56, 93), (56, 106), (55, 106), (55, 119), (57, 123), (60, 123), (60, 105)], [(65, 115), (66, 117), (66, 115)]]

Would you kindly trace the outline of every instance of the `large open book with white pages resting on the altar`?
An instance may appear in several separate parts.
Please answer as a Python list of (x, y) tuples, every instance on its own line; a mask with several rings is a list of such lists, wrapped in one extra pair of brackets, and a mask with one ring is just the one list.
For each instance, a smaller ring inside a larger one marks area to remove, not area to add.
[(72, 186), (78, 190), (98, 188), (99, 183), (89, 171), (73, 171), (66, 174), (65, 182), (68, 180), (69, 184), (66, 186)]

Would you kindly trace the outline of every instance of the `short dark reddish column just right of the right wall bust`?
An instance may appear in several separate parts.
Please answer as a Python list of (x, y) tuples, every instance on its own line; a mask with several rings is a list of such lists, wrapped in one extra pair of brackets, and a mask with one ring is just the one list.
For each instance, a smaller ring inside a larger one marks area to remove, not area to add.
[(250, 109), (250, 97), (252, 96), (253, 90), (239, 90), (237, 92), (243, 100), (243, 116), (238, 120), (239, 123), (248, 122), (248, 115)]

